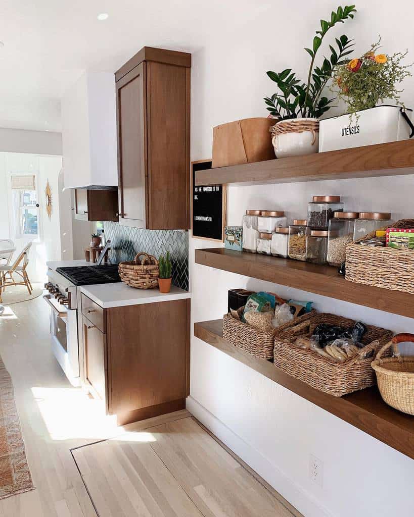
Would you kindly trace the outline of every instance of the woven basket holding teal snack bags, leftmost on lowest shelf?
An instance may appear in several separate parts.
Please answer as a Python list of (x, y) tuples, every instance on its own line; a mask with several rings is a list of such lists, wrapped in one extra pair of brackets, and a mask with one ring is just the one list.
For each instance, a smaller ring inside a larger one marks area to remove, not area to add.
[[(315, 312), (316, 311), (313, 310), (292, 321), (297, 323), (306, 321), (315, 314)], [(260, 359), (273, 359), (275, 331), (280, 331), (289, 323), (280, 325), (277, 329), (263, 332), (247, 325), (247, 323), (235, 320), (230, 314), (225, 314), (223, 318), (223, 338), (250, 355), (259, 357)]]

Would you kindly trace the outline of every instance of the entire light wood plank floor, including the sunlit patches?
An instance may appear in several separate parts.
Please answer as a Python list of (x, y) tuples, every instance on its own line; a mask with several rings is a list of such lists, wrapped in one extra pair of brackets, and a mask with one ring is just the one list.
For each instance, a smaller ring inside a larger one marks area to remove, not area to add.
[(0, 500), (0, 517), (299, 515), (186, 410), (123, 428), (103, 416), (55, 361), (42, 298), (0, 316), (0, 355), (37, 487)]

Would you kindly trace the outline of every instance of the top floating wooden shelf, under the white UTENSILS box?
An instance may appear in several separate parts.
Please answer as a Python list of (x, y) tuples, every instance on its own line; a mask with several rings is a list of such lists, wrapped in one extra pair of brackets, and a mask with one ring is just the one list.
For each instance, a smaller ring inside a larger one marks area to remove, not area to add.
[(414, 174), (414, 139), (196, 172), (196, 185), (263, 185)]

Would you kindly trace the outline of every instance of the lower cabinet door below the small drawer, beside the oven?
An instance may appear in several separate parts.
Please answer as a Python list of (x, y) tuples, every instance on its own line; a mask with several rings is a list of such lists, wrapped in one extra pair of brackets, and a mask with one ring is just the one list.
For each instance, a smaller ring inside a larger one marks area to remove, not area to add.
[(99, 397), (107, 402), (106, 336), (92, 322), (83, 317), (85, 374)]

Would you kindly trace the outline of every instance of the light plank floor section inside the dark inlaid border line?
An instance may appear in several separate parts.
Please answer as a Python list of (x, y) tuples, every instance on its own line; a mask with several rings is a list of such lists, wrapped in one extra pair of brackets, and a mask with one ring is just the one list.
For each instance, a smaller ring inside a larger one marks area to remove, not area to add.
[(100, 517), (299, 515), (190, 417), (72, 454)]

